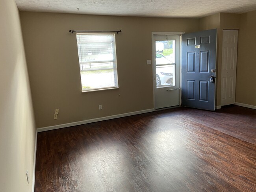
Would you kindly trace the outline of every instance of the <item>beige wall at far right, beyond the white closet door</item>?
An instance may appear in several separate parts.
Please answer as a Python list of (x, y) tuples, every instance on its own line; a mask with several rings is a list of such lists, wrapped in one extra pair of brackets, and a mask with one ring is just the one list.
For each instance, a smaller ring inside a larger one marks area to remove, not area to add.
[(236, 102), (256, 106), (256, 11), (241, 15), (238, 34)]

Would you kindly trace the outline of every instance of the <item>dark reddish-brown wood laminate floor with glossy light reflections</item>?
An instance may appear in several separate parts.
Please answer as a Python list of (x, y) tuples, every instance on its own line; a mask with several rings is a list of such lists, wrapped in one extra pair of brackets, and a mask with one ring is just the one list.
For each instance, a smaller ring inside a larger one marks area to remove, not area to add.
[(256, 110), (177, 108), (38, 133), (35, 192), (255, 192)]

